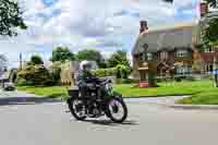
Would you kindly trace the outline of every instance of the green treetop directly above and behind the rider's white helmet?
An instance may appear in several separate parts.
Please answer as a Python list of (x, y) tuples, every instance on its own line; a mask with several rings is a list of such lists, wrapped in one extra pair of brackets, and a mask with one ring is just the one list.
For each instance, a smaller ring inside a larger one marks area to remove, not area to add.
[(106, 68), (107, 64), (105, 63), (102, 55), (95, 49), (84, 49), (77, 52), (76, 59), (80, 61), (88, 60), (88, 61), (96, 61), (100, 68)]

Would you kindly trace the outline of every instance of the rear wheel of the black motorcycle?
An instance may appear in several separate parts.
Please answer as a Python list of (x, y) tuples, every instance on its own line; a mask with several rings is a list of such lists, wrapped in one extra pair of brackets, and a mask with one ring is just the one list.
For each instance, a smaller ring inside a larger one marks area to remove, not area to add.
[(83, 104), (82, 100), (77, 98), (69, 98), (68, 99), (68, 105), (69, 109), (71, 111), (71, 114), (76, 119), (76, 120), (85, 120), (86, 119), (86, 110), (85, 110), (85, 105)]

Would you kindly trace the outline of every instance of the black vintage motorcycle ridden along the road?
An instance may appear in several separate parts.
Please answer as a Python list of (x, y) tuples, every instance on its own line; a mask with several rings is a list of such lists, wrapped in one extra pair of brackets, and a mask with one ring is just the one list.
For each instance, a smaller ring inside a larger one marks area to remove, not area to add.
[(76, 120), (107, 116), (114, 123), (122, 123), (128, 118), (128, 107), (122, 95), (114, 92), (110, 80), (96, 78), (87, 84), (86, 97), (81, 96), (78, 87), (69, 89), (69, 109)]

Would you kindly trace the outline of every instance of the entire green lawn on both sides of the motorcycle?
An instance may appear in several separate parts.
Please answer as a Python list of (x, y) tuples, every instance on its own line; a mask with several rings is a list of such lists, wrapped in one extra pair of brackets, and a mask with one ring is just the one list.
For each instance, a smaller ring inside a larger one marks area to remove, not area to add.
[[(124, 97), (159, 97), (173, 95), (191, 95), (191, 98), (180, 100), (181, 104), (207, 104), (218, 105), (218, 88), (214, 87), (211, 81), (196, 82), (170, 82), (159, 83), (156, 88), (138, 88), (135, 84), (114, 85), (114, 89)], [(68, 89), (61, 86), (55, 87), (19, 87), (19, 90), (36, 94), (44, 97), (65, 97)]]

